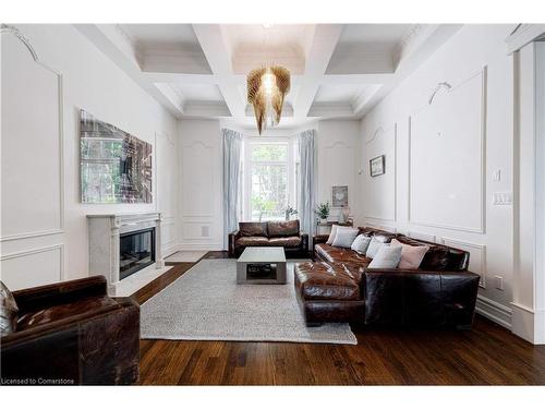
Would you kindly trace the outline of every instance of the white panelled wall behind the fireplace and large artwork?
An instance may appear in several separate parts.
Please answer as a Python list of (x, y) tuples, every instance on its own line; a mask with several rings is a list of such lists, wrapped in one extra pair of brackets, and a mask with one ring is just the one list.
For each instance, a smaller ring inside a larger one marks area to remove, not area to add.
[[(2, 35), (2, 280), (16, 289), (87, 276), (87, 214), (164, 212), (164, 240), (167, 246), (175, 243), (177, 183), (168, 176), (177, 169), (175, 120), (73, 26), (17, 27), (39, 61), (61, 74), (62, 93), (56, 94), (55, 73), (36, 64), (12, 35)], [(17, 67), (8, 64), (12, 58)], [(4, 86), (17, 77), (39, 89)], [(57, 118), (51, 107), (59, 104), (56, 130), (48, 120)], [(80, 109), (154, 144), (155, 182), (160, 182), (153, 204), (81, 203)], [(47, 128), (33, 132), (33, 122)], [(25, 131), (16, 131), (17, 124)]]

